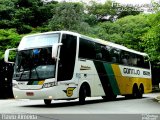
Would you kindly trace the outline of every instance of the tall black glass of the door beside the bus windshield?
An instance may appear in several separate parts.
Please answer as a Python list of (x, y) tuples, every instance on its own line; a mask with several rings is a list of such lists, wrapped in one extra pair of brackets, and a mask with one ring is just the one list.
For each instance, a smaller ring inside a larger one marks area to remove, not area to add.
[(63, 34), (58, 65), (58, 81), (71, 80), (76, 57), (76, 36)]

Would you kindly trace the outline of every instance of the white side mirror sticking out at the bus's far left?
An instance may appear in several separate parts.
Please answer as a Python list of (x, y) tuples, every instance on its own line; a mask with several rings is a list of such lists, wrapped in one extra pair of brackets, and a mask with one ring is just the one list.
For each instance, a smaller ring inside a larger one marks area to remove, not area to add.
[(6, 63), (11, 63), (11, 64), (14, 64), (14, 62), (11, 62), (11, 61), (9, 61), (9, 57), (11, 56), (11, 51), (13, 52), (13, 51), (17, 51), (17, 48), (12, 48), (12, 49), (7, 49), (6, 51), (5, 51), (5, 54), (4, 54), (4, 61), (6, 62)]

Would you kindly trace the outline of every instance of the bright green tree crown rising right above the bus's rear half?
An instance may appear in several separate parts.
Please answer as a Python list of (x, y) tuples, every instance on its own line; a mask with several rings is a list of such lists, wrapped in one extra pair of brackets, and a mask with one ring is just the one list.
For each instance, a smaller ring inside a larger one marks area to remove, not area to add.
[(127, 16), (115, 22), (101, 22), (92, 29), (96, 37), (134, 50), (144, 51), (142, 36), (149, 30), (147, 15)]

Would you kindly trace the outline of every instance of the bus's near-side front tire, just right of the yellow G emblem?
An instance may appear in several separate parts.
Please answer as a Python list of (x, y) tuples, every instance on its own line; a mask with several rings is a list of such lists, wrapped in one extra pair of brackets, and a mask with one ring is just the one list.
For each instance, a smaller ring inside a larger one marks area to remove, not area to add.
[(80, 88), (80, 91), (79, 91), (79, 104), (80, 105), (84, 105), (85, 104), (86, 96), (87, 96), (87, 89), (86, 89), (85, 86), (82, 86)]

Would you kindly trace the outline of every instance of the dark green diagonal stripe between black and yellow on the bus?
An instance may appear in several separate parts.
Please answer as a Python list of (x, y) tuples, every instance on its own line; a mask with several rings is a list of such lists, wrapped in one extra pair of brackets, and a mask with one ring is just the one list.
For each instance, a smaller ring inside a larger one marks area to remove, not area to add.
[(120, 94), (120, 90), (119, 90), (119, 87), (118, 87), (118, 84), (117, 84), (117, 81), (116, 81), (116, 78), (115, 78), (115, 75), (114, 75), (114, 72), (113, 72), (111, 64), (103, 63), (103, 65), (104, 65), (106, 73), (107, 73), (107, 75), (109, 77), (109, 82), (111, 84), (113, 93), (115, 95)]

